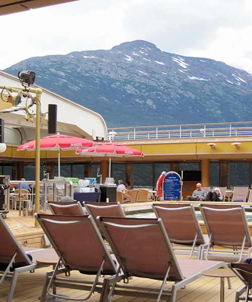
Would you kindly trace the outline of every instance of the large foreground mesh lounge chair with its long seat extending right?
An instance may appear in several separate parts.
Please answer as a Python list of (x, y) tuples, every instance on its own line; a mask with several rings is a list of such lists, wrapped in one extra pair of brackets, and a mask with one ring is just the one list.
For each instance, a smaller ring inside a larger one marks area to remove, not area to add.
[[(157, 302), (162, 297), (175, 302), (176, 291), (202, 277), (203, 270), (227, 267), (219, 261), (177, 259), (160, 218), (99, 217), (99, 223), (119, 263), (117, 274), (121, 270), (129, 282), (134, 276), (162, 281), (158, 288), (134, 287), (117, 284), (114, 278), (110, 287), (107, 278), (104, 292), (110, 291), (104, 302), (110, 301), (112, 294), (155, 298)], [(167, 281), (173, 282), (171, 289), (165, 287)]]

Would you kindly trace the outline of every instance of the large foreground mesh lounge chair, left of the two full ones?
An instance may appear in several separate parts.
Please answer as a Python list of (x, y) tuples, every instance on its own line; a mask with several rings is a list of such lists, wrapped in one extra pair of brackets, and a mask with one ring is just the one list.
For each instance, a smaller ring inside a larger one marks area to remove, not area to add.
[[(49, 291), (51, 286), (89, 291), (85, 298), (69, 297), (70, 300), (86, 300), (95, 291), (102, 296), (103, 282), (99, 281), (99, 276), (115, 275), (116, 265), (92, 216), (36, 213), (35, 217), (59, 256), (55, 269), (46, 274), (40, 301), (45, 301), (46, 294), (62, 298)], [(59, 268), (60, 261), (64, 264), (63, 268)], [(90, 281), (90, 277), (73, 280), (68, 277), (72, 270), (93, 275), (94, 281)], [(58, 277), (59, 274), (64, 276)]]

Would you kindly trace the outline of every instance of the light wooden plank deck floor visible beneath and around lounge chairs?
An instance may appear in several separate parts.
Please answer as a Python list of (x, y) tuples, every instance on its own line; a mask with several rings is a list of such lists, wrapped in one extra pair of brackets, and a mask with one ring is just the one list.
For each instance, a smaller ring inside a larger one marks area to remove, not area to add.
[[(16, 211), (17, 212), (17, 211)], [(36, 232), (37, 228), (34, 226), (34, 218), (31, 217), (19, 217), (16, 212), (11, 212), (7, 215), (5, 221), (9, 225), (11, 231), (15, 236), (20, 235), (22, 232)], [(44, 282), (45, 273), (50, 268), (41, 268), (35, 271), (35, 273), (25, 272), (19, 275), (13, 302), (33, 302), (39, 301), (41, 295), (42, 286)], [(84, 276), (79, 272), (71, 274), (73, 278), (83, 278)], [(85, 276), (86, 278), (86, 276)], [(92, 278), (92, 277), (89, 277)], [(242, 282), (234, 277), (231, 278), (232, 289), (227, 288), (227, 282), (225, 281), (225, 302), (234, 302), (235, 292), (242, 285)], [(134, 278), (131, 280), (131, 284), (142, 283), (146, 287), (158, 285), (158, 281)], [(168, 282), (167, 287), (172, 283)], [(9, 289), (9, 282), (4, 282), (0, 286), (0, 302), (6, 301), (7, 293)], [(81, 291), (69, 290), (69, 289), (57, 289), (57, 293), (71, 295), (72, 297), (85, 297)], [(189, 284), (185, 289), (180, 289), (176, 295), (176, 302), (216, 302), (220, 300), (220, 279), (202, 276), (202, 278)], [(98, 302), (99, 294), (94, 294), (88, 301)], [(113, 296), (112, 302), (153, 302), (154, 299), (134, 298), (127, 296)]]

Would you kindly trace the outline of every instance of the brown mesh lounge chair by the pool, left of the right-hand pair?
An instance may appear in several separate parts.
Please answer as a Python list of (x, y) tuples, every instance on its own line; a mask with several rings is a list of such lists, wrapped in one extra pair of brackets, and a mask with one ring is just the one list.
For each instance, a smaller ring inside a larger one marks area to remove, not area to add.
[(175, 254), (193, 255), (201, 259), (201, 250), (208, 236), (204, 236), (193, 204), (152, 204), (157, 218), (162, 218)]

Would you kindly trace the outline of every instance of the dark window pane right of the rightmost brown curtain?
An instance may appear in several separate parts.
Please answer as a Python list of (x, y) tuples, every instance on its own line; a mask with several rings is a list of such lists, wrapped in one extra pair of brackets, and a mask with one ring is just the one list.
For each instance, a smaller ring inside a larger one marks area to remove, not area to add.
[(230, 163), (230, 185), (231, 187), (248, 186), (248, 163)]

